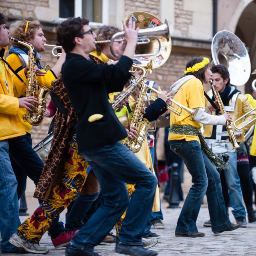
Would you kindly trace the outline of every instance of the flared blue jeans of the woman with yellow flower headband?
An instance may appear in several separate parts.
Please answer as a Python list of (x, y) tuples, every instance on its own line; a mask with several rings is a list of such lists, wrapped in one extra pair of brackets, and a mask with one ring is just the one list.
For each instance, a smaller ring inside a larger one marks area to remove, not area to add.
[(183, 159), (193, 183), (180, 212), (175, 231), (183, 234), (198, 232), (196, 219), (205, 194), (212, 231), (228, 228), (231, 222), (226, 214), (220, 174), (202, 151), (201, 145), (196, 140), (171, 140), (169, 143), (171, 150)]

